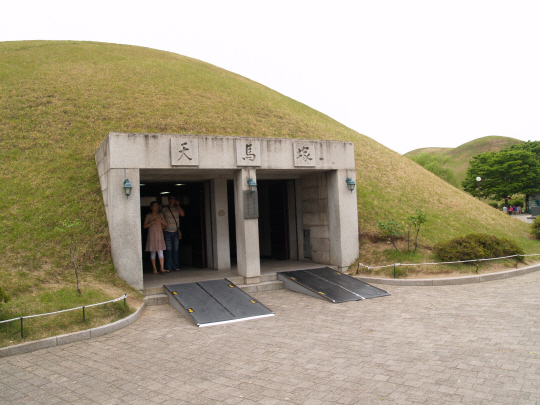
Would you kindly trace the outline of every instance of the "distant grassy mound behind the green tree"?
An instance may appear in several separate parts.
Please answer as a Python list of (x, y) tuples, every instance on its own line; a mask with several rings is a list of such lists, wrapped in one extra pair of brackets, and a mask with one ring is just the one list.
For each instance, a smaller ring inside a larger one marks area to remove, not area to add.
[(467, 167), (469, 167), (469, 161), (473, 156), (485, 152), (498, 152), (501, 149), (505, 149), (520, 143), (523, 143), (523, 141), (506, 136), (493, 135), (472, 140), (458, 146), (457, 148), (420, 148), (407, 152), (403, 156), (414, 157), (421, 153), (427, 153), (430, 155), (450, 157), (445, 167), (448, 167), (454, 171), (456, 180), (461, 188), (461, 182), (465, 179)]

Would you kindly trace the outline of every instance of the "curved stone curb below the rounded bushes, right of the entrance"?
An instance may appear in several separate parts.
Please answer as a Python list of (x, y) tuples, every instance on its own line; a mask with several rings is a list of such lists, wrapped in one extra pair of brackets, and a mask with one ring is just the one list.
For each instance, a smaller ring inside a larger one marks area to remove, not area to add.
[(483, 283), (485, 281), (504, 280), (505, 278), (522, 276), (540, 270), (540, 265), (523, 267), (501, 271), (499, 273), (479, 274), (476, 276), (449, 277), (449, 278), (424, 278), (424, 279), (401, 279), (401, 278), (376, 278), (355, 276), (366, 283), (387, 284), (387, 285), (406, 285), (406, 286), (436, 286), (436, 285), (459, 285)]

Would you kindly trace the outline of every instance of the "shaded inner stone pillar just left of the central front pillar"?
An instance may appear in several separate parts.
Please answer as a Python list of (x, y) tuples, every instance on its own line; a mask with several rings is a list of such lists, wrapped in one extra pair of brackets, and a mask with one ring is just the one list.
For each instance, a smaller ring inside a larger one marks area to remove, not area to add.
[(229, 270), (231, 268), (231, 252), (229, 246), (227, 180), (210, 180), (210, 196), (214, 269)]

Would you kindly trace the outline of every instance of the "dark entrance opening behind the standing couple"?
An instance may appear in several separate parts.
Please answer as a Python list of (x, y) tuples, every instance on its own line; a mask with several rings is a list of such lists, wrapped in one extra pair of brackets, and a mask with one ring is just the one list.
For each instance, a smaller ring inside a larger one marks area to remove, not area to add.
[(169, 196), (174, 195), (185, 212), (180, 217), (182, 239), (178, 247), (180, 266), (207, 268), (206, 227), (204, 210), (204, 183), (146, 183), (141, 192), (141, 235), (143, 251), (143, 272), (151, 273), (150, 254), (145, 251), (148, 232), (143, 228), (144, 219), (151, 212), (150, 203), (157, 201), (160, 212), (169, 204)]

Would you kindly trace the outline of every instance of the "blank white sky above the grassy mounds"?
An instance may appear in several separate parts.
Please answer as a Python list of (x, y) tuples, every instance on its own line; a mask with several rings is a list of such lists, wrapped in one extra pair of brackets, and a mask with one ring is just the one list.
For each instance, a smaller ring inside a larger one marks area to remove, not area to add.
[(399, 153), (487, 135), (540, 140), (537, 0), (19, 0), (1, 12), (0, 41), (89, 40), (190, 56)]

